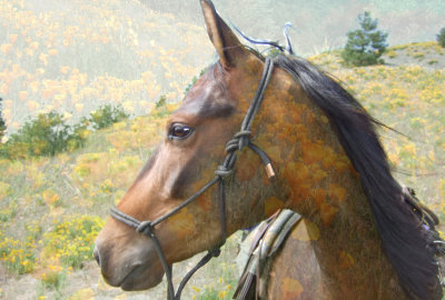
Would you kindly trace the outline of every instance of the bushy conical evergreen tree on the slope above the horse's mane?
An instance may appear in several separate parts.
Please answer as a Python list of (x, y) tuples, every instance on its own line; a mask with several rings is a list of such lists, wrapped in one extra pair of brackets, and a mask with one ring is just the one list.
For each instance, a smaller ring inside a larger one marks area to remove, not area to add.
[(362, 29), (347, 32), (347, 42), (342, 57), (348, 66), (369, 66), (383, 63), (379, 59), (385, 52), (388, 33), (377, 30), (377, 19), (372, 19), (365, 11), (358, 16)]

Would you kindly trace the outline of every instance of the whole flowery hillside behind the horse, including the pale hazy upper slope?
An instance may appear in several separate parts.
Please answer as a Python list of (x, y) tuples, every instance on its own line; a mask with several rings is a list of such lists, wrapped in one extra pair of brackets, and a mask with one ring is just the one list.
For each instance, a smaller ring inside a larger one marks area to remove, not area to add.
[[(73, 152), (0, 160), (0, 299), (165, 299), (164, 284), (150, 292), (108, 287), (92, 260), (92, 242), (161, 138), (174, 102), (211, 62), (212, 48), (202, 27), (175, 22), (137, 1), (51, 3), (0, 0), (0, 97), (8, 127), (16, 130), (26, 116), (51, 109), (75, 120), (102, 103), (122, 103), (139, 117), (93, 132)], [(385, 54), (387, 64), (366, 68), (344, 68), (338, 51), (309, 60), (406, 134), (382, 131), (396, 177), (445, 222), (444, 49), (436, 42), (395, 46)], [(169, 104), (154, 109), (161, 94)], [(211, 292), (228, 298), (237, 239), (190, 281), (186, 299)], [(191, 261), (175, 267), (177, 279)]]

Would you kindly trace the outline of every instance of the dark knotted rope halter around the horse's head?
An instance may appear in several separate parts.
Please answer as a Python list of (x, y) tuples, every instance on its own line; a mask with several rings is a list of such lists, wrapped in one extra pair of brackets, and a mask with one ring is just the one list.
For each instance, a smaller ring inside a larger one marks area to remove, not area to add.
[[(168, 293), (168, 300), (179, 300), (184, 287), (187, 284), (188, 280), (191, 278), (191, 276), (204, 264), (206, 264), (211, 258), (218, 257), (220, 253), (220, 248), (222, 244), (225, 244), (226, 239), (227, 239), (227, 227), (226, 227), (226, 191), (225, 191), (225, 180), (227, 176), (230, 176), (234, 171), (235, 162), (237, 159), (236, 152), (240, 151), (244, 147), (250, 148), (258, 157), (261, 159), (263, 163), (265, 164), (266, 172), (268, 178), (275, 177), (274, 169), (271, 168), (271, 163), (267, 154), (257, 146), (255, 146), (250, 141), (250, 127), (254, 122), (255, 116), (257, 114), (261, 102), (263, 98), (267, 88), (267, 84), (269, 83), (269, 80), (271, 78), (271, 73), (274, 70), (274, 61), (271, 58), (266, 58), (265, 61), (265, 69), (263, 71), (263, 77), (261, 80), (259, 81), (258, 89), (255, 93), (255, 97), (250, 103), (249, 109), (246, 112), (246, 116), (243, 120), (241, 129), (234, 134), (233, 139), (229, 140), (226, 144), (226, 152), (227, 156), (222, 162), (222, 164), (218, 166), (218, 168), (215, 170), (215, 178), (208, 181), (201, 189), (199, 189), (195, 194), (192, 194), (190, 198), (188, 198), (186, 201), (184, 201), (181, 204), (172, 209), (171, 211), (167, 212), (166, 214), (159, 217), (155, 221), (138, 221), (135, 218), (123, 213), (117, 208), (111, 208), (110, 209), (110, 216), (115, 218), (118, 221), (121, 221), (130, 227), (136, 228), (136, 230), (147, 237), (150, 237), (154, 244), (156, 252), (158, 253), (159, 260), (162, 264), (164, 271), (166, 273), (167, 278), (167, 293)], [(208, 250), (207, 254), (201, 258), (201, 260), (192, 268), (181, 280), (178, 291), (175, 294), (175, 288), (172, 283), (172, 269), (171, 266), (168, 264), (166, 256), (164, 254), (162, 248), (160, 246), (160, 242), (158, 238), (155, 234), (155, 227), (159, 224), (160, 222), (165, 221), (172, 214), (177, 213), (179, 210), (188, 206), (191, 201), (196, 200), (199, 196), (201, 196), (206, 190), (208, 190), (211, 186), (215, 183), (218, 183), (218, 210), (219, 210), (219, 220), (221, 224), (221, 242)]]

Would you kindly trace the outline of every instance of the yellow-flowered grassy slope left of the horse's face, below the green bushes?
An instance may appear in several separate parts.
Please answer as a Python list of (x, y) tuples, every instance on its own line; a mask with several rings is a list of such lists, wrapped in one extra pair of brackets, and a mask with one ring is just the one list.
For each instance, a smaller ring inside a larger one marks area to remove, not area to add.
[[(166, 298), (164, 284), (149, 293), (125, 293), (108, 287), (99, 278), (91, 256), (98, 229), (89, 229), (85, 218), (99, 219), (100, 227), (161, 137), (172, 109), (175, 106), (168, 106), (93, 132), (87, 147), (76, 152), (51, 159), (0, 161), (0, 254), (6, 253), (0, 267), (0, 274), (6, 278), (0, 299), (18, 294), (26, 299), (83, 299), (90, 294)], [(82, 242), (77, 242), (70, 231)], [(206, 267), (206, 277), (191, 280), (185, 294), (198, 294), (209, 282), (218, 282), (218, 291), (222, 292), (233, 284), (236, 277), (230, 257), (235, 240), (219, 261)], [(176, 273), (184, 276), (190, 263), (175, 267)], [(211, 280), (208, 274), (212, 274)], [(23, 284), (29, 287), (24, 293)]]

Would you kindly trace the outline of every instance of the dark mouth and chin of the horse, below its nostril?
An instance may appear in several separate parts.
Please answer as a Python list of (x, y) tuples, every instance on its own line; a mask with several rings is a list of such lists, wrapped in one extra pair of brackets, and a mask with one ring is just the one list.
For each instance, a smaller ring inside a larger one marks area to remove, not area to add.
[[(140, 291), (148, 290), (158, 286), (162, 281), (164, 271), (152, 270), (147, 264), (136, 264), (118, 284), (111, 286), (120, 287), (125, 291)], [(107, 280), (107, 279), (106, 279)]]

